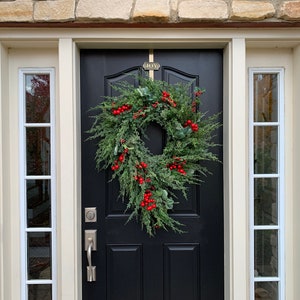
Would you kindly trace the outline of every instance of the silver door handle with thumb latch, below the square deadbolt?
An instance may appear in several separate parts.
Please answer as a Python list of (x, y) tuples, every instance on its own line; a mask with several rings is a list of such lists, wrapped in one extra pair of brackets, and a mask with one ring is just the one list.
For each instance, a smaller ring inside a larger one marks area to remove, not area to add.
[(85, 250), (88, 261), (87, 281), (96, 281), (96, 266), (92, 265), (92, 251), (97, 250), (97, 230), (85, 230)]

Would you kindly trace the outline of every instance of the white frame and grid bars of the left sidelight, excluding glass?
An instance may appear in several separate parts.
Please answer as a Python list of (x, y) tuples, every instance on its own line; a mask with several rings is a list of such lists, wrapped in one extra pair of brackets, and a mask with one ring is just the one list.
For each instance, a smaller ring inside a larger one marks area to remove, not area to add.
[[(26, 123), (25, 109), (25, 75), (49, 74), (50, 76), (50, 123)], [(29, 284), (51, 284), (52, 299), (57, 295), (57, 236), (56, 236), (56, 137), (55, 137), (55, 70), (54, 68), (21, 68), (19, 69), (19, 142), (20, 142), (20, 224), (21, 224), (21, 299), (28, 299)], [(50, 128), (50, 175), (27, 176), (26, 175), (26, 128), (27, 127)], [(45, 228), (27, 228), (26, 226), (26, 179), (49, 179), (51, 181), (51, 226)], [(27, 233), (50, 232), (51, 233), (51, 279), (28, 280), (27, 279)]]

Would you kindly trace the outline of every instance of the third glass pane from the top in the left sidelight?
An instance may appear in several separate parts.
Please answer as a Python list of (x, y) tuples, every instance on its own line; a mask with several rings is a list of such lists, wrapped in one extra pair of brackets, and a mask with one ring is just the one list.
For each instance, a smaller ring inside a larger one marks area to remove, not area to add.
[(27, 180), (27, 226), (51, 226), (50, 180)]

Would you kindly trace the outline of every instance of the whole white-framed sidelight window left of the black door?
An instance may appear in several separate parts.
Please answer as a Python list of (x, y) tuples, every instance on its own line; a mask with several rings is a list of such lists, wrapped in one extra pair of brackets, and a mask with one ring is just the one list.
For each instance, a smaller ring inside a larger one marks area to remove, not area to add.
[(21, 69), (20, 200), (23, 300), (55, 295), (54, 70)]

